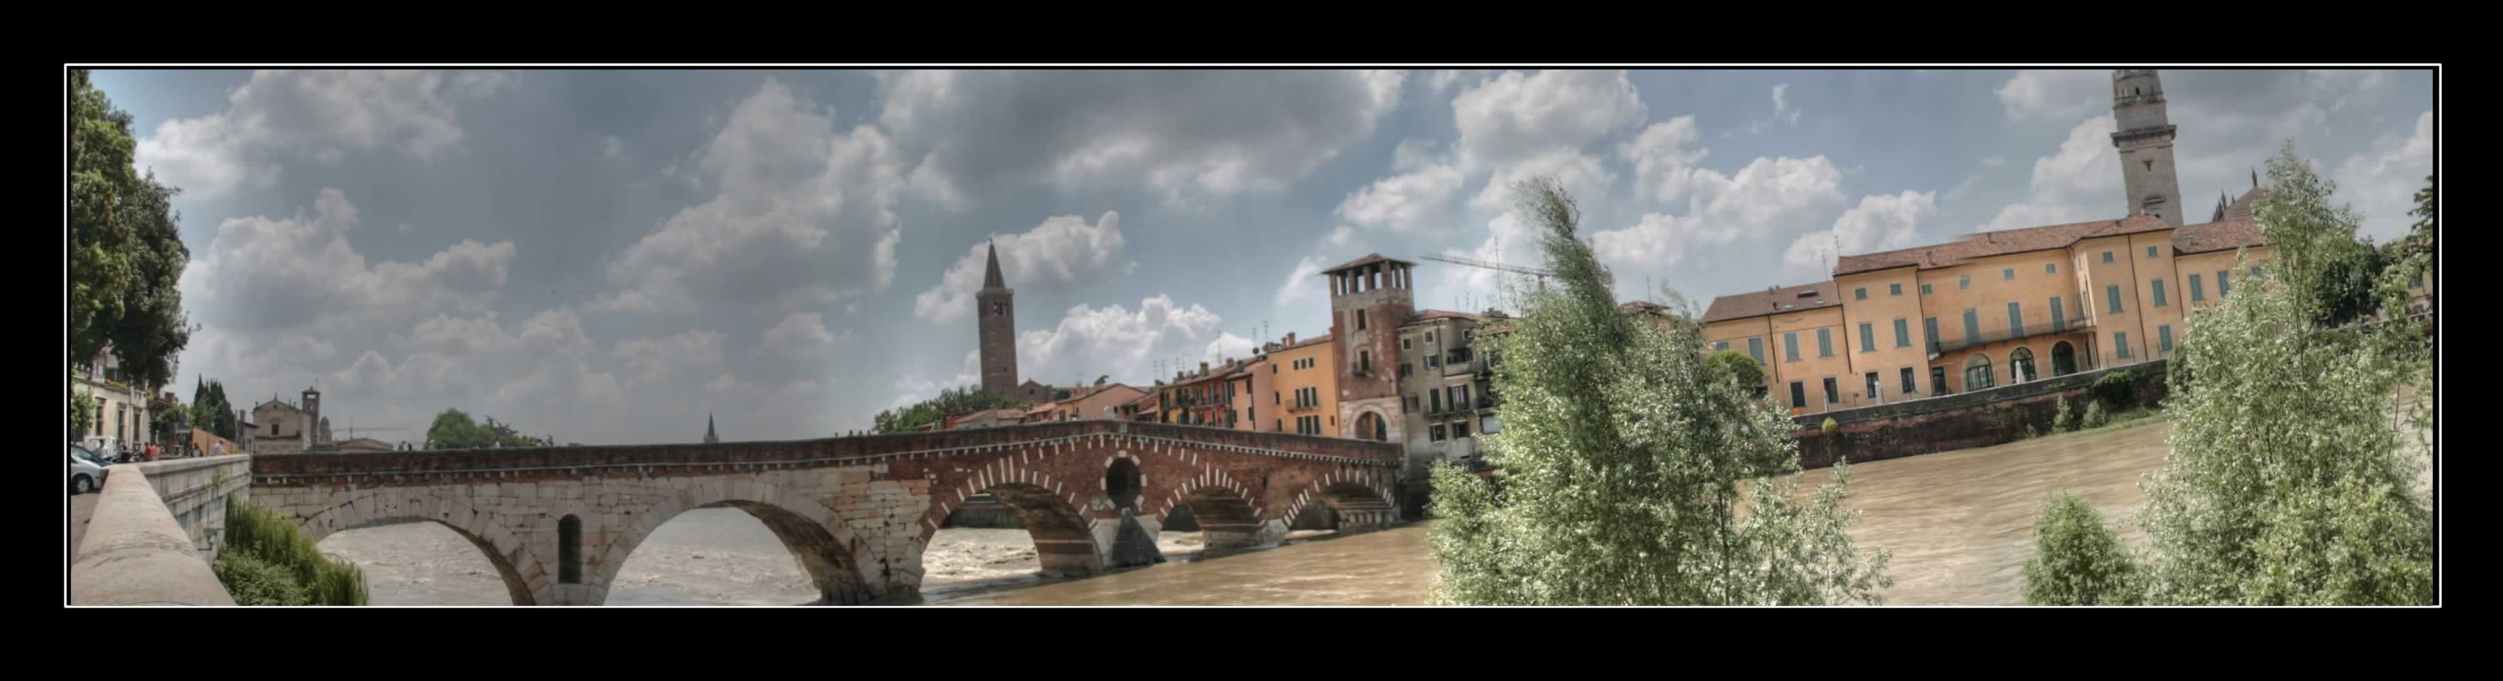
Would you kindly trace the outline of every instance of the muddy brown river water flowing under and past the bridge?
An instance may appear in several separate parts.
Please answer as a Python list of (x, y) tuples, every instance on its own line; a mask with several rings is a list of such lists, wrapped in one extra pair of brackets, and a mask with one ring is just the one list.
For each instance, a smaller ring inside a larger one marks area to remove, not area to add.
[[(2015, 606), (2032, 556), (2032, 518), (2052, 491), (2075, 491), (2123, 526), (2145, 503), (2138, 483), (2163, 466), (2165, 421), (2065, 433), (1995, 448), (1852, 466), (1852, 538), (1895, 553), (1890, 606)], [(1810, 471), (1825, 483), (1832, 471)], [(2430, 473), (2423, 478), (2430, 483)], [(1294, 533), (1287, 546), (1191, 561), (1199, 533), (1164, 533), (1166, 563), (1096, 578), (1036, 576), (1024, 531), (949, 528), (924, 553), (929, 606), (1419, 606), (1437, 563), (1429, 523), (1374, 533)], [(375, 606), (506, 606), (493, 568), (433, 523), (333, 533), (325, 553), (365, 568)], [(788, 551), (736, 508), (696, 508), (653, 531), (608, 591), (611, 606), (791, 606), (813, 601)]]

